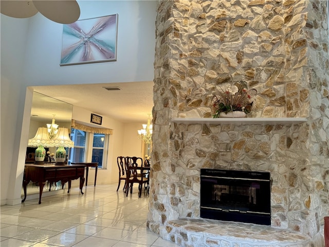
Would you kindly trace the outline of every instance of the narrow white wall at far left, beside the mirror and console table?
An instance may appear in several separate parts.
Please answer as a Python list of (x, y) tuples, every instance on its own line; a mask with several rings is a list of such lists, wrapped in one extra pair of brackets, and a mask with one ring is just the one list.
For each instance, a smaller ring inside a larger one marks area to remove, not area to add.
[[(13, 193), (8, 195), (9, 181), (23, 178), (22, 171), (17, 171), (18, 150), (22, 132), (22, 121), (26, 89), (21, 85), (24, 80), (21, 70), (25, 54), (25, 37), (28, 32), (27, 19), (14, 19), (1, 14), (1, 204), (9, 199), (13, 201)], [(3, 25), (10, 22), (11, 25)], [(14, 30), (14, 31), (13, 31)], [(32, 100), (32, 97), (30, 97)], [(20, 114), (17, 114), (20, 113)], [(18, 173), (18, 174), (17, 174)], [(17, 174), (17, 175), (16, 175)], [(15, 187), (15, 183), (10, 186)], [(22, 186), (22, 184), (21, 184)], [(17, 198), (17, 197), (16, 197)]]

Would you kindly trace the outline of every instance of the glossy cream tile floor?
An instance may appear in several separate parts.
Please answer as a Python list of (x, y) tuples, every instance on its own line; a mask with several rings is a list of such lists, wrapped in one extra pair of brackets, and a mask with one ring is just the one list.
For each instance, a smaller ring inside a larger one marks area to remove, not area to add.
[(178, 247), (146, 226), (149, 195), (128, 197), (117, 184), (84, 186), (70, 193), (4, 205), (0, 209), (0, 246)]

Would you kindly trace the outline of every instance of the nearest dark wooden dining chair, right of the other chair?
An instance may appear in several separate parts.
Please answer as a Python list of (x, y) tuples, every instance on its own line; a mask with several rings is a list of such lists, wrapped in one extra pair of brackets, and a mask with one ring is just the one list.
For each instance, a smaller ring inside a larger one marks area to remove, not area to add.
[(149, 176), (141, 175), (143, 173), (143, 159), (141, 157), (129, 157), (127, 160), (127, 185), (126, 196), (133, 193), (134, 183), (138, 183), (138, 197), (141, 197), (143, 184), (149, 183)]

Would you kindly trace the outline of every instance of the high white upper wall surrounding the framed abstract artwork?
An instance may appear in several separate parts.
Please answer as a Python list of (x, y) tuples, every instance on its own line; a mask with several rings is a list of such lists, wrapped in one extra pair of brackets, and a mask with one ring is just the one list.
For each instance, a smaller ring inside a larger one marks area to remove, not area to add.
[(118, 13), (117, 61), (59, 66), (63, 25), (31, 18), (24, 74), (29, 85), (152, 81), (154, 1), (78, 1), (80, 20)]

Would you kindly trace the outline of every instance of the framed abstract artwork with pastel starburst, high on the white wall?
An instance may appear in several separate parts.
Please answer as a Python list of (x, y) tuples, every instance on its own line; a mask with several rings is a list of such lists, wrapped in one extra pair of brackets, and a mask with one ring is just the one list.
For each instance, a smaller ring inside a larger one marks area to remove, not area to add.
[(118, 14), (63, 25), (60, 65), (117, 60)]

